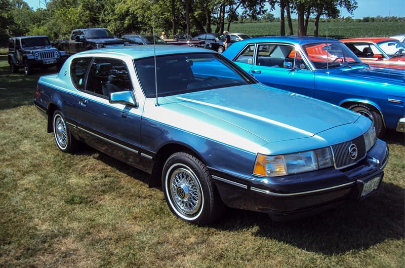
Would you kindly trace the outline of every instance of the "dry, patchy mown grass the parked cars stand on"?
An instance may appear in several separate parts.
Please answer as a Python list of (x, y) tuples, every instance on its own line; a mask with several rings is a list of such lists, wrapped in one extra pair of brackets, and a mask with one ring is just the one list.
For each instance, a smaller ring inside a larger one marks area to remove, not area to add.
[(301, 221), (228, 209), (207, 227), (169, 211), (147, 174), (57, 149), (32, 105), (42, 72), (0, 56), (0, 267), (404, 267), (404, 136), (385, 137), (379, 192)]

